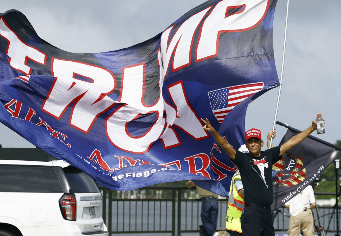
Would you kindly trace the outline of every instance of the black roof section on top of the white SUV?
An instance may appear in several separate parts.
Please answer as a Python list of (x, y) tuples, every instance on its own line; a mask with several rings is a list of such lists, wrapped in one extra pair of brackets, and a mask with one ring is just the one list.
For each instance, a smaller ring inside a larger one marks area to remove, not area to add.
[(38, 161), (49, 162), (58, 158), (44, 152), (40, 148), (2, 148), (0, 147), (0, 160)]

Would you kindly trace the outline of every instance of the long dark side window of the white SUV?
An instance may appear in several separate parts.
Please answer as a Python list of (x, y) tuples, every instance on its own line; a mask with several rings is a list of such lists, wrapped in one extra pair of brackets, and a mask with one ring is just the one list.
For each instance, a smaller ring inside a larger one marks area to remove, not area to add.
[(0, 165), (0, 179), (0, 192), (63, 192), (54, 167)]

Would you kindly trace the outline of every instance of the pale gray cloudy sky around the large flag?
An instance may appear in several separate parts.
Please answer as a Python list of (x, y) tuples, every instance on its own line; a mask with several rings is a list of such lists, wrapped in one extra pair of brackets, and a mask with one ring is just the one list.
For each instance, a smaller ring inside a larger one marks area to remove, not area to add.
[[(241, 2), (243, 0), (240, 0)], [(152, 38), (205, 0), (0, 0), (0, 12), (21, 11), (39, 37), (69, 52), (118, 50)], [(341, 140), (341, 1), (291, 0), (282, 92), (277, 121), (300, 130), (321, 113), (326, 133), (313, 136), (335, 144)], [(275, 60), (280, 77), (286, 1), (278, 0), (274, 19)], [(278, 88), (253, 101), (246, 130), (272, 128)], [(276, 125), (278, 145), (286, 128)], [(34, 147), (0, 124), (4, 148)]]

